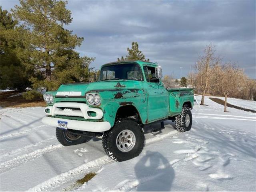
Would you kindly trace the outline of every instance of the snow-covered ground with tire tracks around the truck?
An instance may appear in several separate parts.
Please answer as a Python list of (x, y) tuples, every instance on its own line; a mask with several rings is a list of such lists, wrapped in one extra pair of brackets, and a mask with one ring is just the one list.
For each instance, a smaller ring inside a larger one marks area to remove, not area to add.
[[(208, 98), (205, 104), (192, 110), (189, 132), (166, 121), (162, 133), (145, 134), (142, 154), (126, 162), (110, 160), (101, 140), (61, 146), (55, 129), (41, 123), (41, 107), (1, 109), (0, 190), (255, 191), (256, 114), (224, 113)], [(89, 172), (97, 175), (76, 183)]]

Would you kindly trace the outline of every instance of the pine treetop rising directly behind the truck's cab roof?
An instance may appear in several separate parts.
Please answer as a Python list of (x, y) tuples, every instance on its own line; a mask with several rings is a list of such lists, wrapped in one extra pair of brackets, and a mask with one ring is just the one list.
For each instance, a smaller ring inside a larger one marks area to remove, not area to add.
[(126, 58), (122, 56), (121, 58), (117, 58), (118, 61), (125, 61), (125, 60), (142, 60), (142, 61), (149, 61), (146, 59), (142, 51), (139, 50), (139, 44), (137, 42), (132, 42), (132, 48), (127, 48), (128, 55)]

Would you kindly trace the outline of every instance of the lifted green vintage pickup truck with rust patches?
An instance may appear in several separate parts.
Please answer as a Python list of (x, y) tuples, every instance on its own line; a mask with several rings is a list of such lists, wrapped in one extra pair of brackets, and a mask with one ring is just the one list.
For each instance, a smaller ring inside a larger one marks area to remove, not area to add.
[(44, 93), (47, 103), (42, 119), (56, 127), (56, 137), (64, 145), (102, 138), (106, 154), (116, 161), (138, 156), (144, 147), (143, 130), (165, 120), (175, 121), (176, 130), (192, 126), (190, 109), (193, 89), (166, 89), (162, 68), (146, 61), (104, 64), (96, 82), (63, 84)]

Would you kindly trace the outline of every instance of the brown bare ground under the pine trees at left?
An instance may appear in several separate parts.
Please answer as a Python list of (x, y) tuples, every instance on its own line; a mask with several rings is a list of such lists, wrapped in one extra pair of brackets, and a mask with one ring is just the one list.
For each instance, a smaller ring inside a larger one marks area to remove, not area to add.
[(41, 101), (28, 101), (22, 97), (21, 91), (0, 92), (0, 106), (6, 107), (45, 107), (43, 98)]

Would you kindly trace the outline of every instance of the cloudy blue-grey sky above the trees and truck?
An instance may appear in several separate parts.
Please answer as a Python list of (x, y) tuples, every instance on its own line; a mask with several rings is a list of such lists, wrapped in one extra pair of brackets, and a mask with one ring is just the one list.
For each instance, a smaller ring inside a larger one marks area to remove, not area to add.
[[(0, 0), (10, 10), (18, 0)], [(237, 62), (256, 79), (256, 1), (69, 0), (73, 22), (66, 28), (84, 37), (81, 55), (96, 57), (92, 67), (127, 54), (137, 41), (164, 74), (186, 76), (212, 42), (225, 61)]]

